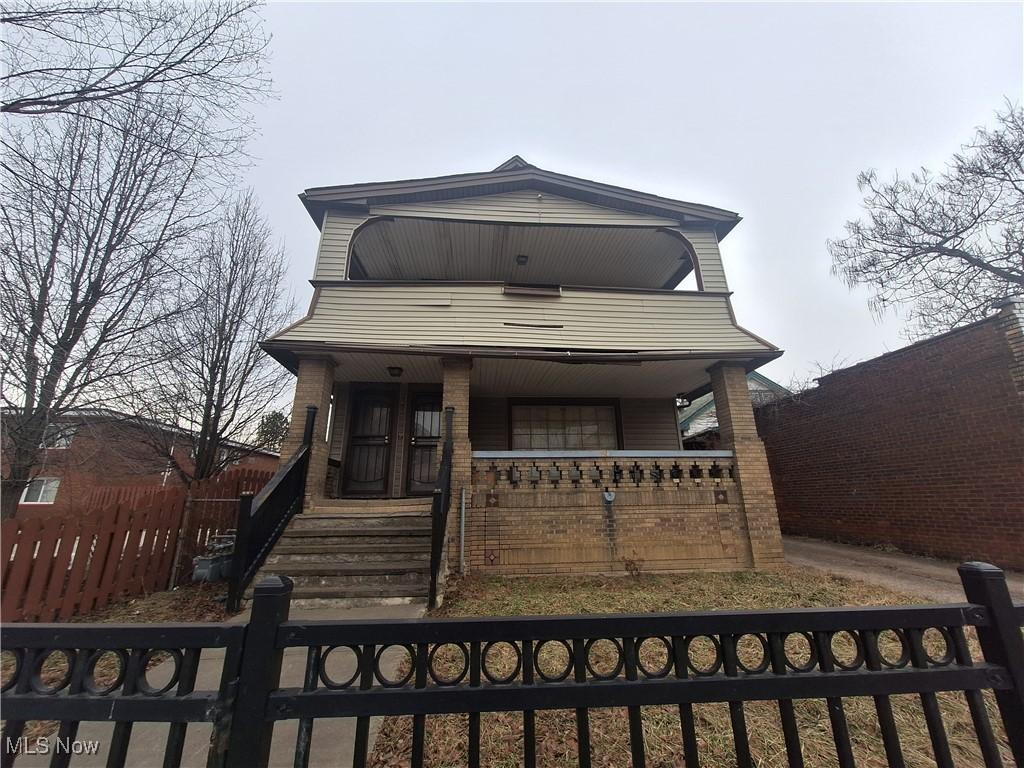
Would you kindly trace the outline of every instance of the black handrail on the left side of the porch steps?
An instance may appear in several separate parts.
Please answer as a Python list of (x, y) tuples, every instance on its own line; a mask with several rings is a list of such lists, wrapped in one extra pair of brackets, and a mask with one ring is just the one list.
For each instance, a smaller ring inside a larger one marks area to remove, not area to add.
[(302, 444), (298, 451), (281, 466), (255, 498), (252, 494), (243, 494), (239, 500), (234, 551), (231, 554), (227, 584), (229, 611), (237, 611), (242, 607), (246, 587), (266, 561), (288, 523), (302, 510), (315, 422), (316, 407), (307, 406)]

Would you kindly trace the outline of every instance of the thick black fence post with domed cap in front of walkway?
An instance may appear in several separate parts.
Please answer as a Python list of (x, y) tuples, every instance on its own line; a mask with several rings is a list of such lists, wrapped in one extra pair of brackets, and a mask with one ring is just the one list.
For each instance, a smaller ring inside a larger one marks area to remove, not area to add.
[(292, 580), (288, 577), (268, 577), (256, 585), (242, 646), (227, 768), (266, 768), (269, 762), (273, 723), (266, 720), (266, 706), (281, 684), (284, 651), (278, 647), (278, 628), (288, 621), (291, 599)]

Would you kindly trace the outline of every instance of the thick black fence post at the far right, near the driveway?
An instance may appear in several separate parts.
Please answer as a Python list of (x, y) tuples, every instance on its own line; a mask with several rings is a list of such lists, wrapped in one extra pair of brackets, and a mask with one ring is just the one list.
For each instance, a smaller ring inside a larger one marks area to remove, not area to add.
[(996, 689), (995, 702), (1014, 760), (1024, 766), (1024, 639), (1006, 574), (985, 562), (966, 562), (956, 570), (967, 599), (988, 612), (988, 624), (977, 628), (978, 642), (985, 660), (1010, 675), (1013, 688)]

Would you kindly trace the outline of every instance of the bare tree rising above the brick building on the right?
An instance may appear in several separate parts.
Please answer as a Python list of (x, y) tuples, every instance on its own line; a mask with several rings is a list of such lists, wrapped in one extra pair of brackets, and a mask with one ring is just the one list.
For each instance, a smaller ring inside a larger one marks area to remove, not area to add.
[(1007, 104), (941, 174), (857, 179), (864, 218), (830, 241), (833, 271), (881, 314), (906, 305), (911, 337), (980, 319), (1024, 293), (1024, 112)]

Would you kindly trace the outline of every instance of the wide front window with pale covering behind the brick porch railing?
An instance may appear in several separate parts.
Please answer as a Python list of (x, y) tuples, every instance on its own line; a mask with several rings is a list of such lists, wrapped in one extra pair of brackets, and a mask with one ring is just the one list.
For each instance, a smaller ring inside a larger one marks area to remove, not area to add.
[(581, 451), (618, 447), (612, 404), (512, 406), (513, 451)]

